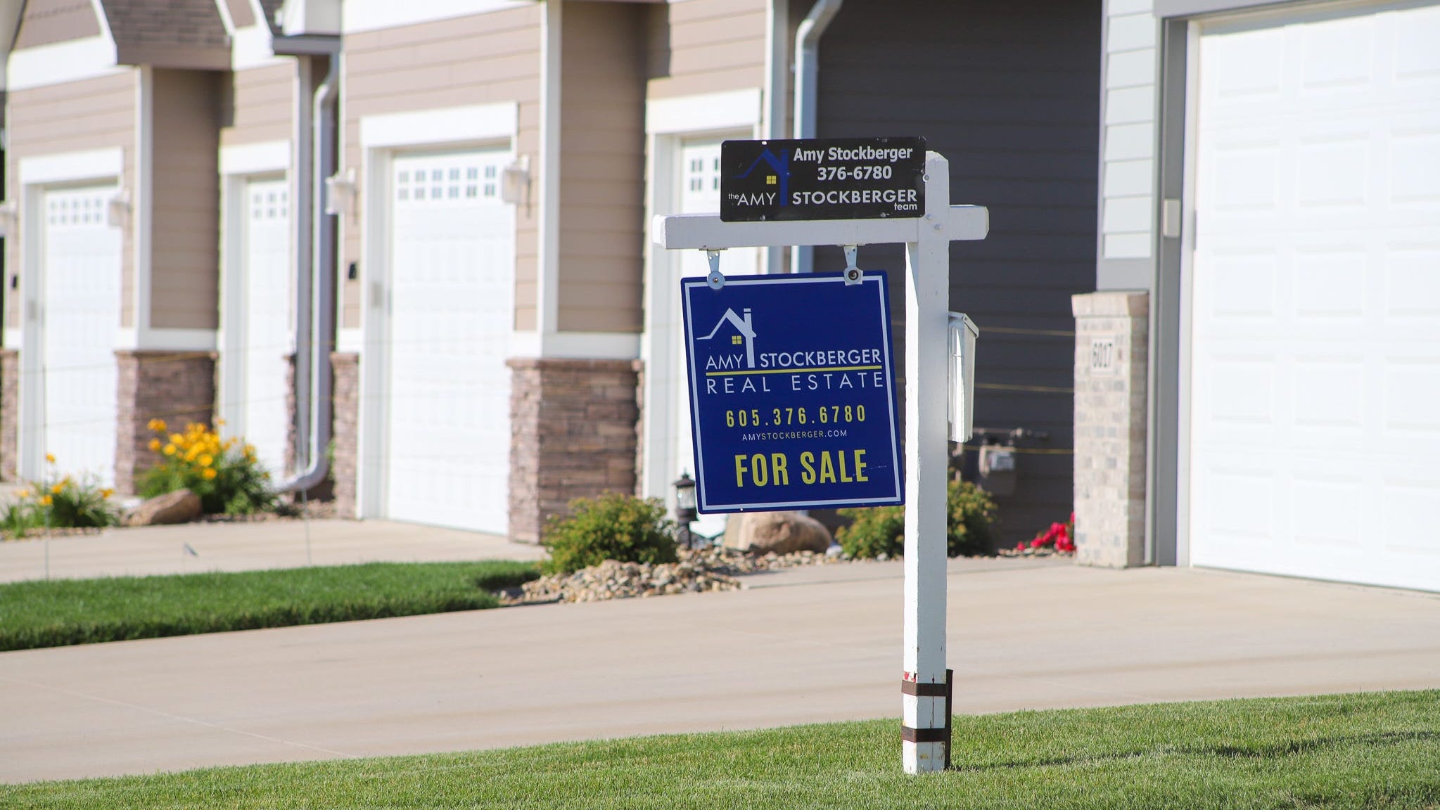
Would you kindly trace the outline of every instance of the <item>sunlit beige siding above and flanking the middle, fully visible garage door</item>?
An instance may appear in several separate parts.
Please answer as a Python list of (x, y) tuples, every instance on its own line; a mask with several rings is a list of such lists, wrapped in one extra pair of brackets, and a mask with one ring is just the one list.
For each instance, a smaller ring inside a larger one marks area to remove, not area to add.
[[(540, 217), (540, 68), (541, 4), (436, 23), (346, 36), (344, 163), (364, 187), (360, 119), (369, 115), (418, 112), (449, 106), (518, 102), (517, 155), (530, 155), (536, 177), (530, 204), (516, 210), (516, 328), (536, 328), (537, 226)], [(363, 204), (363, 203), (361, 203)], [(344, 223), (341, 266), (360, 262), (364, 213)], [(361, 283), (343, 286), (343, 328), (361, 324)]]

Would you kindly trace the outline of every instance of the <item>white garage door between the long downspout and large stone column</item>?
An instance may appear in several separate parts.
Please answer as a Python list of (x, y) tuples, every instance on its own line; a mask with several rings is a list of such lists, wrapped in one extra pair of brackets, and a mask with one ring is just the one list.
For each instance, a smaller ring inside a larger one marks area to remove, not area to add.
[(508, 527), (514, 211), (508, 153), (396, 157), (387, 515)]

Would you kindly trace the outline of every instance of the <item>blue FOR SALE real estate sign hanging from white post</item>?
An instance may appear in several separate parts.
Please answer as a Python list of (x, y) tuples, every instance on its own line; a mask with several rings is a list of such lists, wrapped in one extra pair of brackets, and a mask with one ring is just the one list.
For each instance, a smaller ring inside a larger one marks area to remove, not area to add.
[(904, 502), (883, 270), (681, 282), (701, 512)]

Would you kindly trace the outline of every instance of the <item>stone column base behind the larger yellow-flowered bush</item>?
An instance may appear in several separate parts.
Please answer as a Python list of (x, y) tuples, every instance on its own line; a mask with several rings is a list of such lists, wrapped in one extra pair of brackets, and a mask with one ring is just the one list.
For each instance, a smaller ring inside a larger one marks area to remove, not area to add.
[(117, 351), (120, 371), (115, 432), (115, 489), (132, 493), (151, 466), (151, 419), (171, 432), (186, 423), (210, 424), (215, 416), (213, 352)]

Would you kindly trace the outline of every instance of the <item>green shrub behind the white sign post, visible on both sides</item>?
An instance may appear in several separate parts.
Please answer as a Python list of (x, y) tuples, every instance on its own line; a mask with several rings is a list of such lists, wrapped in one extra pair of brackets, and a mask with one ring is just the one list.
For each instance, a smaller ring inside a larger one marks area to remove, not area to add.
[[(968, 481), (950, 481), (945, 496), (945, 545), (950, 557), (973, 557), (992, 551), (995, 501)], [(904, 506), (868, 506), (840, 509), (852, 522), (835, 532), (835, 540), (851, 557), (897, 557), (904, 554)]]

